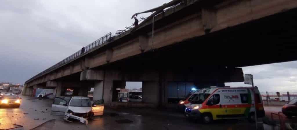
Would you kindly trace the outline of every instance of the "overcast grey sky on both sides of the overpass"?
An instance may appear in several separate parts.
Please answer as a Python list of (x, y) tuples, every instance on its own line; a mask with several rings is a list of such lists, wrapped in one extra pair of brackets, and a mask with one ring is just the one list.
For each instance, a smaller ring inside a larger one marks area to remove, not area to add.
[[(23, 84), (99, 37), (130, 26), (135, 12), (168, 1), (1, 0), (0, 81)], [(297, 92), (297, 62), (250, 66), (243, 70), (254, 75), (260, 91)], [(245, 86), (244, 83), (226, 85)]]

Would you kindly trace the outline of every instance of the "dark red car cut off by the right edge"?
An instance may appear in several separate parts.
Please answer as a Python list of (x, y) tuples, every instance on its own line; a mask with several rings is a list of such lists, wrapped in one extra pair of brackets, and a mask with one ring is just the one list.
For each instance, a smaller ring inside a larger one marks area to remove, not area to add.
[(284, 113), (288, 118), (297, 116), (297, 99), (293, 99), (289, 103), (285, 104), (282, 107), (282, 113)]

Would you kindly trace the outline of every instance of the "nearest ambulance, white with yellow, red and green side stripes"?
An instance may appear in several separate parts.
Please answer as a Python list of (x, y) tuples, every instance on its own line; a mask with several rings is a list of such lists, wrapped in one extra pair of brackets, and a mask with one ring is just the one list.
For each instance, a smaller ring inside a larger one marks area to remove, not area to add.
[(198, 93), (185, 108), (185, 116), (201, 119), (204, 123), (238, 118), (249, 118), (250, 121), (255, 121), (255, 110), (258, 118), (265, 115), (257, 87), (214, 87), (205, 88)]

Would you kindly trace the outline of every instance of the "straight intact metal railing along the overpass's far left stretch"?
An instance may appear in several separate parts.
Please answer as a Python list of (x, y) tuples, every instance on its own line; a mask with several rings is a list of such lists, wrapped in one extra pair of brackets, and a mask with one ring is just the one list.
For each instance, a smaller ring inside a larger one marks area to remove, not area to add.
[[(96, 41), (92, 42), (91, 44), (85, 46), (85, 50), (83, 53), (87, 53), (88, 51), (92, 50), (93, 48), (102, 45), (104, 42), (110, 40), (112, 38), (112, 33), (108, 33), (105, 36), (97, 39)], [(35, 79), (36, 77), (41, 76), (42, 74), (48, 73), (56, 68), (59, 68), (60, 66), (69, 63), (70, 61), (79, 58), (82, 54), (82, 50), (78, 50), (77, 52), (75, 52), (74, 54), (68, 56), (67, 58), (65, 58), (64, 60), (58, 62), (57, 64), (51, 66), (50, 68), (40, 72), (39, 74), (35, 75), (34, 77), (30, 78), (29, 80), (26, 81), (26, 83), (30, 82), (31, 80)]]

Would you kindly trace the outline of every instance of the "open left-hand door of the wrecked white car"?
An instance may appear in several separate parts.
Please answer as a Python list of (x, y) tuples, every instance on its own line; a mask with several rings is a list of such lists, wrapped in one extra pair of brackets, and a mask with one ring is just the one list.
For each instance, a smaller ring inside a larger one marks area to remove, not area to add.
[(52, 104), (52, 109), (50, 110), (50, 115), (65, 115), (67, 107), (67, 101), (65, 101), (62, 98), (55, 97), (54, 102)]

